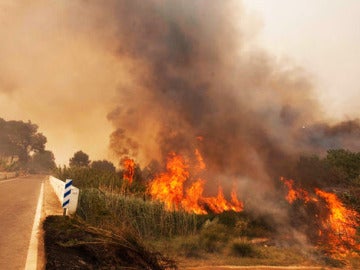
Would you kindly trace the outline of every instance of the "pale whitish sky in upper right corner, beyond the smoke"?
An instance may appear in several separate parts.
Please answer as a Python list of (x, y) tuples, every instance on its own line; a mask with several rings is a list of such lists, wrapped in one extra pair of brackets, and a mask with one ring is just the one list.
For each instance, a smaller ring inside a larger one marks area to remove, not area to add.
[(360, 1), (244, 0), (257, 41), (310, 72), (329, 117), (360, 117)]

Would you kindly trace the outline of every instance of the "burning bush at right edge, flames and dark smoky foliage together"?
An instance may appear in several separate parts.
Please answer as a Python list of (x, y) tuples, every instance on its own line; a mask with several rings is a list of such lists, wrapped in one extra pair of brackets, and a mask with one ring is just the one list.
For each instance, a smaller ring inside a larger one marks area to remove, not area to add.
[(331, 256), (360, 251), (359, 213), (346, 208), (334, 193), (318, 188), (307, 191), (296, 187), (293, 180), (281, 180), (288, 189), (286, 200), (292, 204), (290, 216), (294, 227)]

